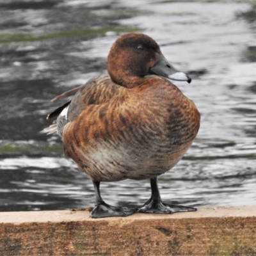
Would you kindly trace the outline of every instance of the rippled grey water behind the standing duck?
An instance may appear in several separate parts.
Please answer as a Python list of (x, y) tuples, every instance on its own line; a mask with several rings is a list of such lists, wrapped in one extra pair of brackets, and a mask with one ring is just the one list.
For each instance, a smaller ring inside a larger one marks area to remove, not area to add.
[[(50, 99), (106, 72), (111, 44), (122, 31), (136, 29), (193, 78), (175, 84), (202, 115), (193, 146), (159, 177), (163, 199), (191, 206), (256, 204), (255, 6), (9, 0), (0, 7), (0, 211), (94, 204), (91, 180), (63, 157), (60, 138), (40, 131), (60, 104)], [(149, 182), (102, 183), (102, 196), (113, 205), (142, 205)]]

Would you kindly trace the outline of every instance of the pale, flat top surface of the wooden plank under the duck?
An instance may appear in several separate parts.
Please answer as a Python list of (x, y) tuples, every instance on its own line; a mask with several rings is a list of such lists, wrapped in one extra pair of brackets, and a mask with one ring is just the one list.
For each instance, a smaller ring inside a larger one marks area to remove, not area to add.
[(115, 221), (115, 220), (177, 220), (191, 218), (223, 218), (223, 217), (255, 217), (256, 205), (236, 207), (200, 207), (196, 212), (177, 212), (175, 214), (143, 214), (136, 213), (127, 217), (90, 218), (90, 212), (85, 211), (29, 211), (0, 212), (1, 223), (31, 223), (31, 222), (61, 222), (61, 221)]

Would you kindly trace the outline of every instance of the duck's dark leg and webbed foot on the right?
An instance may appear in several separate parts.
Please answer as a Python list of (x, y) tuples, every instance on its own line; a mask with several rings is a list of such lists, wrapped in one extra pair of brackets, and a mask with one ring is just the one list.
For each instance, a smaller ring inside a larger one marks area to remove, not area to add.
[(139, 212), (172, 214), (174, 212), (193, 212), (194, 207), (183, 205), (166, 204), (161, 200), (157, 186), (157, 178), (150, 179), (152, 195), (149, 200), (139, 209)]

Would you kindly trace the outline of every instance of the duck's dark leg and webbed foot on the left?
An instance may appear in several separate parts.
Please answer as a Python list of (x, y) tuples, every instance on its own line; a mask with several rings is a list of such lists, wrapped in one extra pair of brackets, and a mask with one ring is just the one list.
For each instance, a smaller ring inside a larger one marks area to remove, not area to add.
[(106, 204), (100, 196), (100, 182), (93, 181), (93, 186), (95, 189), (96, 200), (95, 207), (90, 213), (92, 218), (106, 218), (114, 216), (124, 217), (138, 211), (137, 208), (115, 207)]

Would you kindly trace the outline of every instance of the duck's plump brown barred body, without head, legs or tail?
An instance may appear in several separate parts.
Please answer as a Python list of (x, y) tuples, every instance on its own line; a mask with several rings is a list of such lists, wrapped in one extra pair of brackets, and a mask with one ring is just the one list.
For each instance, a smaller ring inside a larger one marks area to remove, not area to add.
[(148, 76), (128, 89), (103, 76), (70, 103), (65, 156), (96, 181), (152, 178), (180, 160), (199, 124), (195, 104), (167, 79)]

